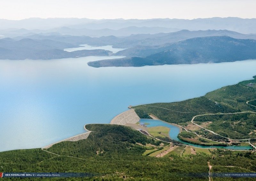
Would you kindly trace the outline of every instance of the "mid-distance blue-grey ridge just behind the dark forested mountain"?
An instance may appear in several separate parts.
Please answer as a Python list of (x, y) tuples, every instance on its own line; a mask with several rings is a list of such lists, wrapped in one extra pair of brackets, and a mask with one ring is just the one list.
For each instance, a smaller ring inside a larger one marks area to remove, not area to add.
[[(15, 37), (15, 40), (21, 40), (24, 38), (30, 38), (35, 40), (49, 39), (54, 41), (61, 41), (66, 43), (72, 43), (76, 46), (80, 44), (89, 44), (95, 46), (113, 45), (115, 48), (136, 48), (135, 46), (152, 46), (152, 45), (163, 45), (165, 43), (173, 43), (181, 40), (186, 40), (195, 37), (205, 36), (230, 36), (236, 39), (256, 39), (256, 34), (242, 34), (232, 32), (228, 30), (199, 30), (189, 31), (181, 30), (173, 33), (156, 33), (156, 34), (135, 34), (127, 37), (116, 37), (116, 36), (103, 36), (103, 37), (89, 37), (89, 36), (70, 36), (61, 35), (56, 33), (48, 34), (33, 34), (29, 36)], [(129, 49), (118, 54), (130, 56)], [(131, 50), (130, 52), (134, 52)], [(131, 54), (132, 55), (132, 54)], [(134, 55), (139, 56), (139, 55)]]

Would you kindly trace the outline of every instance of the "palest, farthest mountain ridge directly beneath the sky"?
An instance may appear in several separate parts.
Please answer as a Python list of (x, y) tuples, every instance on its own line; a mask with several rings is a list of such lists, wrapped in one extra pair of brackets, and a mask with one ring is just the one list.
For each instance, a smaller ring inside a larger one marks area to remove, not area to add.
[[(87, 18), (28, 18), (23, 20), (0, 19), (1, 29), (25, 28), (52, 29), (66, 26), (72, 29), (112, 29), (118, 30), (130, 26), (136, 27), (162, 27), (174, 29), (208, 30), (227, 29), (239, 33), (256, 33), (256, 19), (228, 18), (197, 18), (197, 19), (87, 19)], [(0, 32), (1, 33), (1, 32)], [(159, 32), (160, 33), (160, 32)]]

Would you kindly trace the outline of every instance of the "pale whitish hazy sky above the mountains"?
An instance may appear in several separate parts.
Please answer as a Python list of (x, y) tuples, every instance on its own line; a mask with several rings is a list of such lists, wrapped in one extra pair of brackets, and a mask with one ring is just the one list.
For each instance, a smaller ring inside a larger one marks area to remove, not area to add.
[(256, 18), (256, 0), (1, 0), (0, 18)]

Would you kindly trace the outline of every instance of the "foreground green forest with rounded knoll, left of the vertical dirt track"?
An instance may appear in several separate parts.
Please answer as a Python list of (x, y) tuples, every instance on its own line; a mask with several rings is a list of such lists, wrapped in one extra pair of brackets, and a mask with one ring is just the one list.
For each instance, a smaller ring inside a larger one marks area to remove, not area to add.
[[(190, 174), (207, 172), (207, 157), (193, 160), (169, 157), (143, 156), (143, 146), (136, 144), (160, 142), (129, 127), (118, 125), (87, 125), (92, 132), (86, 140), (58, 143), (48, 151), (40, 149), (7, 151), (0, 153), (0, 171), (3, 172), (87, 172), (99, 174), (91, 178), (43, 180), (188, 180)], [(100, 152), (97, 151), (100, 150)], [(101, 153), (101, 151), (103, 151)], [(19, 158), (19, 153), (24, 157)], [(25, 156), (27, 154), (27, 157)], [(18, 157), (18, 158), (17, 158)], [(28, 158), (30, 157), (30, 158)], [(22, 162), (17, 162), (17, 159)], [(35, 160), (34, 160), (35, 159)], [(31, 162), (30, 160), (34, 160)], [(8, 179), (6, 179), (8, 180)], [(19, 180), (10, 179), (10, 180)], [(39, 180), (39, 179), (24, 179)], [(195, 177), (190, 180), (207, 180)]]

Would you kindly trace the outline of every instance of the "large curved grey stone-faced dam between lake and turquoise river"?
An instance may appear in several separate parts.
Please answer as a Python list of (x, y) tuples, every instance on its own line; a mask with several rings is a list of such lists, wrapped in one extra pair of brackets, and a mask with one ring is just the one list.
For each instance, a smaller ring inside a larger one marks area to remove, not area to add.
[(136, 114), (134, 109), (122, 112), (113, 118), (110, 124), (125, 125), (127, 123), (137, 123), (140, 121), (140, 117)]

